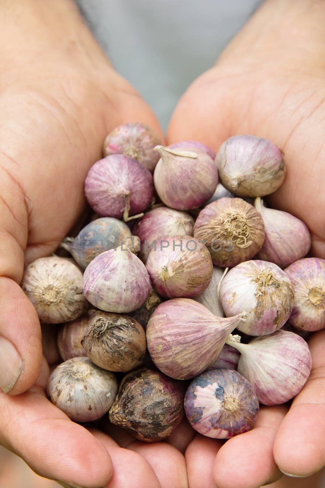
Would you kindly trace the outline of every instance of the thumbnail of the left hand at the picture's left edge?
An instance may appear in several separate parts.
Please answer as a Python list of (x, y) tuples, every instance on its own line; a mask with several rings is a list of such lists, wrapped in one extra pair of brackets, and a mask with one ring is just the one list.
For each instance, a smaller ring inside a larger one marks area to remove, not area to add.
[(0, 336), (0, 388), (11, 391), (22, 371), (22, 359), (18, 350), (5, 337)]

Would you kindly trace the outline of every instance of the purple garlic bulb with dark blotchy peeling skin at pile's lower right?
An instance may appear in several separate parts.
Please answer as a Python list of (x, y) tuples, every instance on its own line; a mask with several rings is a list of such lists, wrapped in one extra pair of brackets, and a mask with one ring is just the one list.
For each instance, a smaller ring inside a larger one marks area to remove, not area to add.
[(212, 439), (229, 439), (254, 427), (258, 399), (249, 382), (231, 369), (210, 369), (188, 387), (184, 407), (191, 426)]

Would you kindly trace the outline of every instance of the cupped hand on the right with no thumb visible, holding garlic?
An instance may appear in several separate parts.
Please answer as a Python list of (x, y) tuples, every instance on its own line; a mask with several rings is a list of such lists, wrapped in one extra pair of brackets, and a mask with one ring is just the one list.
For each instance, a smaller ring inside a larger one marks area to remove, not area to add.
[[(324, 21), (321, 2), (266, 1), (217, 64), (192, 83), (168, 130), (168, 143), (196, 139), (215, 150), (237, 134), (278, 144), (287, 176), (268, 202), (308, 225), (311, 253), (323, 259)], [(324, 466), (324, 331), (313, 334), (310, 350), (312, 373), (285, 417), (286, 406), (263, 407), (257, 427), (222, 447), (194, 438), (186, 451), (191, 488), (200, 487), (201, 472), (212, 470), (218, 488), (257, 488), (279, 477), (279, 469), (308, 476)], [(214, 487), (212, 479), (205, 487)]]

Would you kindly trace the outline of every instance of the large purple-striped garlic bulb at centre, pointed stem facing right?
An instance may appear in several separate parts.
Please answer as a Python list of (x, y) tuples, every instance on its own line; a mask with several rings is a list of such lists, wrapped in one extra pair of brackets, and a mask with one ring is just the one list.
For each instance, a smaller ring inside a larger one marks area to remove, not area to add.
[(208, 369), (218, 358), (230, 332), (246, 313), (222, 318), (188, 298), (157, 306), (147, 325), (147, 345), (163, 373), (187, 380)]

